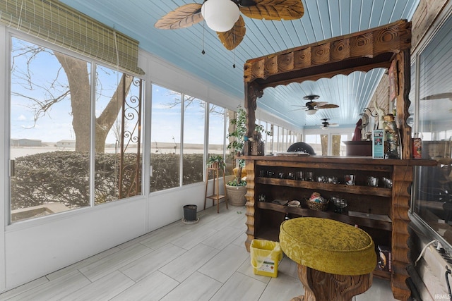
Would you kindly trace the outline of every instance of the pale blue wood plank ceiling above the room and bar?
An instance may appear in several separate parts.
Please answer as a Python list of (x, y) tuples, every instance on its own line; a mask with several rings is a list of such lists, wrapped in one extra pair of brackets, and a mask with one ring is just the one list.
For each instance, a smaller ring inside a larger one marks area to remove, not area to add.
[[(412, 18), (420, 0), (302, 0), (299, 20), (269, 21), (244, 17), (246, 35), (234, 51), (225, 49), (213, 30), (203, 23), (179, 30), (157, 30), (154, 23), (189, 0), (61, 0), (102, 23), (138, 39), (140, 47), (177, 65), (235, 97), (243, 99), (243, 65), (247, 59)], [(195, 0), (202, 3), (203, 0)], [(201, 54), (205, 49), (206, 54)], [(232, 68), (235, 64), (237, 68)], [(258, 107), (298, 128), (331, 123), (355, 127), (359, 113), (369, 104), (385, 70), (337, 75), (332, 79), (302, 82), (264, 90)], [(296, 105), (303, 97), (338, 104), (307, 116)], [(234, 108), (230, 108), (234, 109)], [(298, 109), (298, 110), (297, 110)]]

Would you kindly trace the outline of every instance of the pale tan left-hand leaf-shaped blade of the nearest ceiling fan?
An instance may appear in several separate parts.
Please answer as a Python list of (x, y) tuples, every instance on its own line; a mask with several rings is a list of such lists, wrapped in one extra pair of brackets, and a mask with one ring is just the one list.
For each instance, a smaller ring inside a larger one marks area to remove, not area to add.
[(197, 3), (179, 6), (157, 20), (154, 27), (162, 30), (177, 30), (199, 23), (203, 20), (201, 6), (203, 5)]

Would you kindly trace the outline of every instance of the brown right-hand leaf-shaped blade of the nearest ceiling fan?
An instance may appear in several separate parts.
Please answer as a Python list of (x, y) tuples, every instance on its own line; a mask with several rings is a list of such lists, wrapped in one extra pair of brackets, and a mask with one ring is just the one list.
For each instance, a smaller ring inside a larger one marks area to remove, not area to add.
[[(249, 2), (249, 1), (246, 1)], [(249, 18), (265, 20), (296, 20), (302, 18), (302, 0), (254, 0), (254, 6), (239, 6)]]

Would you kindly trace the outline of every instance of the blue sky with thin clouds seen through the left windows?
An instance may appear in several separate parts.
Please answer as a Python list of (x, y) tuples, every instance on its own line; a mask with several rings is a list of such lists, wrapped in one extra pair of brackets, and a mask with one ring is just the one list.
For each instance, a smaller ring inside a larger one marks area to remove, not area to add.
[[(72, 126), (71, 100), (65, 97), (61, 102), (53, 104), (47, 113), (34, 121), (36, 102), (42, 103), (65, 92), (69, 86), (64, 70), (49, 49), (40, 51), (35, 56), (23, 54), (24, 49), (30, 49), (33, 44), (13, 38), (11, 62), (11, 138), (28, 138), (42, 142), (57, 142), (59, 140), (75, 140)], [(34, 53), (33, 53), (34, 54)], [(28, 64), (29, 62), (29, 64)], [(27, 68), (29, 66), (29, 68)], [(87, 63), (87, 70), (90, 64)], [(105, 109), (109, 99), (114, 94), (121, 74), (115, 70), (98, 67), (95, 115)], [(30, 85), (32, 82), (32, 85)], [(138, 95), (138, 88), (133, 87), (133, 94)], [(18, 95), (20, 94), (20, 95)], [(143, 94), (144, 95), (144, 94)], [(181, 94), (172, 92), (165, 87), (152, 85), (152, 142), (180, 142), (181, 133)], [(32, 100), (35, 99), (35, 100)], [(170, 107), (174, 102), (176, 106)], [(205, 103), (195, 99), (184, 111), (184, 142), (204, 142)], [(149, 110), (148, 110), (149, 111)], [(148, 111), (144, 113), (148, 113)], [(210, 143), (223, 142), (223, 116), (210, 114)], [(131, 127), (134, 120), (127, 121), (126, 127)], [(114, 143), (116, 135), (110, 130), (107, 143)]]

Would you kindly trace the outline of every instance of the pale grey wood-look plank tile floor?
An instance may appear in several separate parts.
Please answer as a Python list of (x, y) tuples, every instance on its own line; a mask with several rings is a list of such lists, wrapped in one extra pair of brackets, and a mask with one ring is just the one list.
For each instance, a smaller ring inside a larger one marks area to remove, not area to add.
[[(200, 221), (171, 223), (6, 293), (0, 300), (259, 300), (302, 295), (297, 265), (285, 257), (278, 277), (254, 275), (244, 241), (245, 208), (220, 205)], [(394, 300), (374, 278), (355, 300)]]

